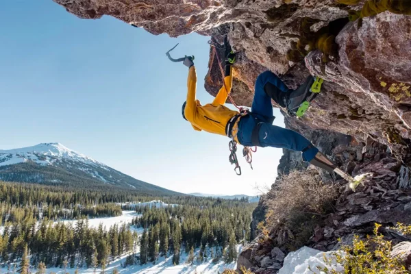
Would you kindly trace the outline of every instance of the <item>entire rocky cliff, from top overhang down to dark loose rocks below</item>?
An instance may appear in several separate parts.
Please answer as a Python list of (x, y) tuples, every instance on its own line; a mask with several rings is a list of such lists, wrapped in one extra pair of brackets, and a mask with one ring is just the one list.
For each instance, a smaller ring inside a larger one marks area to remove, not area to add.
[[(323, 90), (310, 110), (302, 119), (285, 116), (286, 127), (306, 136), (352, 175), (374, 175), (356, 193), (341, 187), (333, 205), (336, 211), (325, 216), (305, 244), (334, 249), (336, 238), (365, 234), (374, 221), (411, 222), (403, 213), (411, 201), (407, 190), (411, 188), (411, 16), (407, 15), (411, 5), (407, 1), (400, 1), (401, 9), (391, 5), (377, 12), (364, 8), (369, 5), (366, 0), (53, 1), (80, 18), (114, 16), (155, 35), (197, 32), (220, 43), (227, 35), (238, 53), (232, 95), (239, 105), (251, 105), (253, 84), (262, 71), (273, 71), (289, 88), (297, 88), (310, 74), (322, 77)], [(211, 95), (222, 85), (215, 53), (223, 58), (222, 50), (210, 48), (206, 90)], [(284, 151), (278, 169), (281, 175), (306, 167), (299, 153)], [(324, 182), (343, 184), (335, 175), (319, 172)], [(269, 210), (267, 199), (260, 200), (253, 214), (257, 237), (256, 225)], [(259, 259), (273, 247), (287, 253), (286, 235), (271, 227), (269, 244), (254, 241), (240, 255), (239, 264), (257, 273), (273, 273), (273, 268), (261, 267), (254, 251), (260, 252)]]

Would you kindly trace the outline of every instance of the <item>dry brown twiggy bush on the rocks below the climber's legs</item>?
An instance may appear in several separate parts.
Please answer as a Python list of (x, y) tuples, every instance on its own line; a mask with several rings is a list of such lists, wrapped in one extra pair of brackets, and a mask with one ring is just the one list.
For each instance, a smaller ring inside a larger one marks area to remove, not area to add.
[(266, 227), (290, 229), (294, 238), (288, 241), (288, 248), (297, 249), (308, 241), (325, 215), (332, 212), (337, 195), (338, 188), (323, 184), (314, 170), (283, 175), (266, 199)]

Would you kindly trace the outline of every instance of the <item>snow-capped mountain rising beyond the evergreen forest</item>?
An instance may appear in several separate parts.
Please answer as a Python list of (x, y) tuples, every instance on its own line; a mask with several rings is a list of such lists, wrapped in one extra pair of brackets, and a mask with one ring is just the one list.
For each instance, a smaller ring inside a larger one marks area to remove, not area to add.
[(151, 195), (177, 195), (97, 162), (58, 142), (0, 150), (0, 180), (68, 186), (118, 186)]

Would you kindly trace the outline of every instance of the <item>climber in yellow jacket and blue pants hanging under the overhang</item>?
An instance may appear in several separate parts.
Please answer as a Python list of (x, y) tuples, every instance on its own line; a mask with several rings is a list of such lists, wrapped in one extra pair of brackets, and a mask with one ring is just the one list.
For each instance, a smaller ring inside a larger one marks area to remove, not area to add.
[(247, 147), (277, 147), (301, 151), (304, 161), (329, 172), (334, 171), (336, 166), (309, 140), (297, 132), (272, 124), (275, 117), (271, 99), (284, 108), (295, 108), (306, 99), (314, 78), (310, 76), (297, 90), (290, 90), (277, 75), (265, 71), (257, 77), (251, 112), (240, 113), (230, 110), (224, 104), (228, 93), (231, 92), (232, 65), (236, 61), (236, 56), (227, 42), (225, 45), (224, 84), (212, 103), (201, 105), (196, 99), (197, 75), (194, 62), (189, 57), (184, 59), (183, 64), (188, 66), (188, 93), (182, 105), (183, 118), (197, 131), (228, 136)]

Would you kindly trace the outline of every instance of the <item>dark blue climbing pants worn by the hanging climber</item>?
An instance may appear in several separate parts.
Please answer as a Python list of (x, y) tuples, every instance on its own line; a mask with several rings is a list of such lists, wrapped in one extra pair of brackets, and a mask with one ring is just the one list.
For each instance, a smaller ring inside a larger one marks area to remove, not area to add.
[[(303, 151), (303, 160), (310, 162), (319, 151), (301, 134), (290, 129), (272, 125), (273, 105), (271, 97), (266, 95), (264, 86), (271, 84), (277, 87), (278, 92), (289, 92), (287, 86), (271, 71), (261, 73), (257, 77), (251, 114), (243, 116), (238, 123), (237, 138), (241, 145), (251, 147), (251, 134), (258, 123), (262, 123), (258, 132), (261, 147), (277, 147)], [(311, 147), (310, 147), (311, 146)]]

